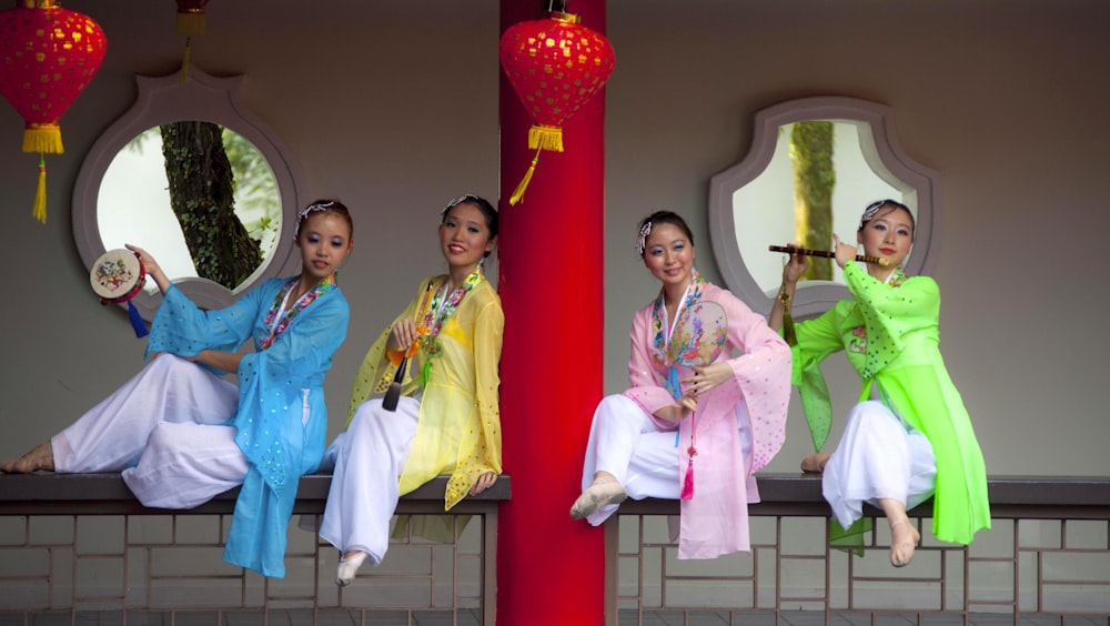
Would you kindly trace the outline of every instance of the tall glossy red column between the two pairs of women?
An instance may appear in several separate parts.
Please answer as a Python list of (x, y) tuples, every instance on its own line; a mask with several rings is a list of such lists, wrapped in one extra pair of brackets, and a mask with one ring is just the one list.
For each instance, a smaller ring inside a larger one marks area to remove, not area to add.
[[(604, 34), (604, 0), (568, 10)], [(543, 2), (501, 0), (501, 32), (547, 17)], [(501, 73), (501, 416), (513, 498), (498, 519), (498, 624), (604, 620), (603, 532), (569, 516), (602, 396), (604, 121), (602, 91), (566, 121), (565, 152), (544, 151), (511, 206), (534, 154), (532, 119)]]

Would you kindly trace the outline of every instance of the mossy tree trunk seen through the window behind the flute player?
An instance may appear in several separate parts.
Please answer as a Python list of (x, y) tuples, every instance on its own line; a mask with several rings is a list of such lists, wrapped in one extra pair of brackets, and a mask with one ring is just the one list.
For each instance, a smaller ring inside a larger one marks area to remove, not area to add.
[[(833, 122), (797, 122), (790, 135), (794, 161), (794, 224), (799, 245), (829, 250), (833, 245)], [(813, 258), (807, 280), (833, 280), (831, 259)]]

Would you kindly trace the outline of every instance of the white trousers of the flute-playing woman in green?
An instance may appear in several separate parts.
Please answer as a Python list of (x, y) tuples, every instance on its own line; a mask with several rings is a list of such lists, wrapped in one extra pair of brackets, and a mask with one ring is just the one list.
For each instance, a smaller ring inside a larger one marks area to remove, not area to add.
[(864, 503), (882, 498), (914, 508), (936, 487), (937, 461), (926, 436), (909, 428), (881, 402), (857, 404), (836, 452), (825, 465), (821, 488), (845, 528), (864, 515)]

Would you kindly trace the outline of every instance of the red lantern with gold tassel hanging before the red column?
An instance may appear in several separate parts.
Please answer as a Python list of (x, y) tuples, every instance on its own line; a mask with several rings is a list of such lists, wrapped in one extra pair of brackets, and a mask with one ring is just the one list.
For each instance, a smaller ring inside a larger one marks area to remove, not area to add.
[(556, 11), (546, 20), (514, 24), (501, 38), (501, 64), (532, 113), (528, 148), (536, 151), (509, 204), (524, 196), (539, 152), (563, 151), (563, 122), (601, 91), (613, 73), (613, 46), (578, 22), (578, 16)]

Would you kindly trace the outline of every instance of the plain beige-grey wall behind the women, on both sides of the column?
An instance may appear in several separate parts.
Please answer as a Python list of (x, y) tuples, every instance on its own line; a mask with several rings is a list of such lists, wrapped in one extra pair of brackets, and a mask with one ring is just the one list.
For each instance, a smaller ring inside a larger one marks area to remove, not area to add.
[[(172, 3), (64, 6), (100, 22), (109, 55), (62, 119), (68, 152), (48, 160), (46, 226), (30, 214), (37, 156), (19, 152), (22, 120), (0, 107), (13, 274), (0, 330), (4, 457), (69, 424), (142, 356), (121, 312), (89, 290), (70, 195), (83, 154), (133, 101), (132, 74), (175, 71), (183, 40)], [(352, 324), (326, 385), (334, 433), (364, 350), (415, 281), (442, 266), (438, 208), (464, 191), (496, 194), (498, 22), (493, 0), (465, 11), (442, 0), (311, 7), (212, 2), (193, 61), (245, 74), (243, 100), (291, 149), (305, 195), (339, 196), (355, 213), (355, 254), (341, 275)], [(1108, 32), (1103, 0), (610, 0), (605, 388), (623, 386), (628, 321), (656, 290), (630, 252), (635, 222), (656, 209), (684, 213), (699, 269), (719, 282), (708, 179), (746, 153), (753, 114), (807, 95), (864, 98), (890, 105), (904, 150), (940, 174), (942, 350), (989, 471), (1110, 473), (1110, 340), (1098, 324)], [(574, 233), (553, 216), (543, 253), (561, 253)], [(541, 336), (562, 340), (557, 329)], [(827, 371), (846, 410), (854, 376), (839, 362)], [(557, 392), (537, 382), (534, 393)], [(523, 416), (505, 415), (514, 417)], [(807, 442), (795, 407), (769, 470), (794, 471)]]

